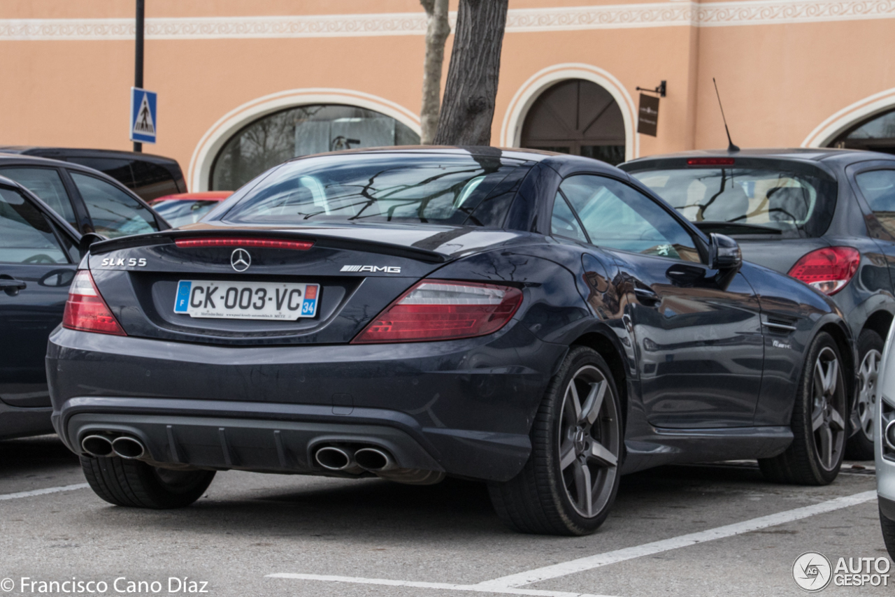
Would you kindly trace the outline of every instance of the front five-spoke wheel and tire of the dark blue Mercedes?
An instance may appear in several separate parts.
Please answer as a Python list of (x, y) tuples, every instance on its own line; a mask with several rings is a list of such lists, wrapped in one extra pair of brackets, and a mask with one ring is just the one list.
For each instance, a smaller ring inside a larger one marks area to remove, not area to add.
[(780, 456), (758, 460), (769, 481), (827, 485), (836, 479), (848, 435), (848, 395), (841, 364), (832, 337), (825, 332), (814, 337), (792, 409), (790, 427), (795, 437)]

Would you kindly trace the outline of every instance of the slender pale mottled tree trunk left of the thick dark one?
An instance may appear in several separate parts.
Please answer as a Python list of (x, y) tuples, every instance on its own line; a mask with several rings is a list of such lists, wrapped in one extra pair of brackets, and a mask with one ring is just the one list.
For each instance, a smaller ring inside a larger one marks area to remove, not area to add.
[(422, 108), (420, 142), (430, 145), (439, 128), (441, 102), (441, 65), (445, 61), (445, 40), (450, 33), (447, 24), (447, 0), (420, 0), (426, 11), (426, 58), (422, 69)]

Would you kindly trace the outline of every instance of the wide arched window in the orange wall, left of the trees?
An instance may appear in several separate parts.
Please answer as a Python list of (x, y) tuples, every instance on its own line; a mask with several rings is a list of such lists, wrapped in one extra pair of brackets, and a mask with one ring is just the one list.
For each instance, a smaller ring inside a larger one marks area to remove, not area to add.
[(226, 141), (211, 166), (209, 190), (234, 191), (289, 158), (419, 143), (405, 124), (362, 107), (291, 107), (259, 118)]

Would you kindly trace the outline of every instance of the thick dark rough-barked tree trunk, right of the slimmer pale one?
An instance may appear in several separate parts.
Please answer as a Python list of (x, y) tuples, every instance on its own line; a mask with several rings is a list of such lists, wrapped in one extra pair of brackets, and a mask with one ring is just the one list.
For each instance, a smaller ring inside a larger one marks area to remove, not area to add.
[(436, 145), (490, 145), (507, 0), (460, 0)]

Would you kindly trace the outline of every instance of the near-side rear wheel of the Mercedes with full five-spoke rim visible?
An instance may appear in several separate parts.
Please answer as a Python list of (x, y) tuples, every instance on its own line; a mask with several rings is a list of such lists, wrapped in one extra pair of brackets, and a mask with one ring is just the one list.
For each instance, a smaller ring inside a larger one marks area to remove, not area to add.
[(596, 531), (618, 493), (621, 413), (609, 366), (591, 348), (573, 347), (544, 393), (522, 472), (489, 484), (498, 516), (522, 533)]

